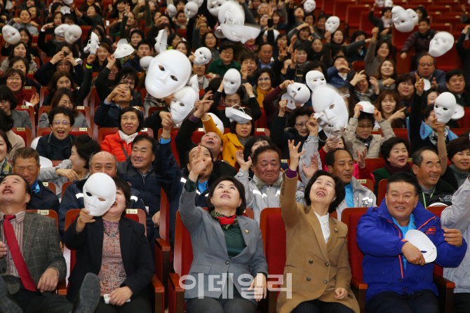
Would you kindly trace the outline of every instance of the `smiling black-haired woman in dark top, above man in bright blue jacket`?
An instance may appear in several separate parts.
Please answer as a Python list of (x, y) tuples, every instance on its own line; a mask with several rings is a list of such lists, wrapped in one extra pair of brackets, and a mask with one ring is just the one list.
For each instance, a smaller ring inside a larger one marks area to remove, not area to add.
[[(410, 172), (411, 165), (408, 163), (410, 146), (408, 141), (400, 137), (391, 137), (384, 141), (380, 147), (380, 153), (385, 160), (385, 167), (375, 169), (372, 173), (375, 177), (374, 193), (377, 195), (379, 182), (382, 179), (389, 179), (392, 174), (398, 172)], [(378, 203), (377, 203), (378, 204)]]

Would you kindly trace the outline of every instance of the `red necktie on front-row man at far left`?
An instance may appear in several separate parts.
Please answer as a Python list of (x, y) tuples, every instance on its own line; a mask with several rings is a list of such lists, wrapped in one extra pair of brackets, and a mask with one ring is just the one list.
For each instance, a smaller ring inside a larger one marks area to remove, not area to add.
[(23, 258), (20, 251), (20, 246), (18, 246), (15, 230), (13, 230), (13, 225), (10, 223), (12, 218), (15, 218), (15, 216), (4, 216), (4, 233), (6, 237), (6, 243), (8, 244), (8, 249), (10, 249), (13, 263), (15, 263), (16, 270), (18, 270), (18, 274), (20, 275), (23, 286), (25, 286), (25, 288), (29, 291), (36, 291), (36, 284), (34, 284), (33, 278), (31, 277), (31, 274), (29, 274), (25, 259)]

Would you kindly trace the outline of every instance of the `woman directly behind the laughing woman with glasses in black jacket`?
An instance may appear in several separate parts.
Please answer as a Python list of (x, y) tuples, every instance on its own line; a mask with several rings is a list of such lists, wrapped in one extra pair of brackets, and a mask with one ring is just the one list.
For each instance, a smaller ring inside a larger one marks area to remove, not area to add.
[(74, 112), (75, 123), (72, 127), (89, 127), (88, 123), (86, 123), (86, 117), (83, 115), (83, 113), (81, 113), (81, 111), (76, 109), (76, 97), (74, 92), (70, 91), (69, 88), (60, 88), (54, 93), (51, 108), (42, 113), (41, 117), (39, 118), (39, 127), (49, 126), (48, 114), (52, 109), (58, 106), (63, 106)]

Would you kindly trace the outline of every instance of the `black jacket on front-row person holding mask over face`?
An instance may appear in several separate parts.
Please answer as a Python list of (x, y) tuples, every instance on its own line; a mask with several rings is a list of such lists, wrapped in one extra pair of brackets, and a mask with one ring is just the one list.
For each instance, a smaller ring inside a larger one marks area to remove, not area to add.
[[(69, 277), (67, 298), (74, 301), (86, 273), (99, 274), (103, 253), (104, 226), (101, 217), (88, 223), (82, 232), (76, 232), (76, 220), (64, 232), (64, 242), (70, 250), (76, 250), (76, 263)], [(145, 226), (130, 220), (119, 220), (119, 242), (126, 270), (126, 280), (121, 287), (128, 286), (137, 295), (152, 281), (155, 272), (154, 259), (145, 237)]]

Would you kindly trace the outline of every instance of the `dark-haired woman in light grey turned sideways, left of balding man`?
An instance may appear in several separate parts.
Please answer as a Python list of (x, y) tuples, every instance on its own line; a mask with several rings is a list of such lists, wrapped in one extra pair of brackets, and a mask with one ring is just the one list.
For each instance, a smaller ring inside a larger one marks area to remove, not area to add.
[(90, 157), (100, 152), (100, 145), (87, 134), (77, 136), (72, 142), (72, 154), (56, 167), (42, 168), (39, 172), (41, 181), (51, 181), (55, 185), (55, 194), (62, 197), (62, 185), (67, 181), (81, 181), (90, 176)]

